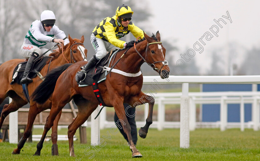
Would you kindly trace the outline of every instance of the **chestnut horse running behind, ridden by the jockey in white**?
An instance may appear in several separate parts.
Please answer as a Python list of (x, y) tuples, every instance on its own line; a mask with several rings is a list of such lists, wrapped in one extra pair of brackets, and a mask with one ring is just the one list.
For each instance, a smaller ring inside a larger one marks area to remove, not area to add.
[[(55, 67), (64, 65), (66, 63), (74, 63), (85, 59), (85, 56), (87, 55), (87, 49), (85, 49), (83, 42), (84, 42), (84, 36), (81, 37), (81, 39), (74, 38), (72, 39), (70, 35), (68, 36), (69, 43), (63, 47), (64, 52), (61, 52), (62, 49), (60, 49), (60, 52), (53, 52), (50, 54), (49, 60), (47, 60), (47, 64), (40, 70), (40, 73), (45, 76), (48, 72), (48, 70), (54, 69)], [(8, 114), (11, 112), (14, 112), (21, 108), (22, 106), (26, 105), (28, 103), (26, 97), (23, 93), (23, 88), (21, 85), (14, 83), (10, 85), (10, 82), (12, 81), (12, 74), (17, 64), (23, 62), (23, 59), (13, 59), (6, 61), (0, 66), (0, 82), (1, 82), (1, 89), (0, 89), (0, 104), (2, 101), (7, 97), (12, 98), (12, 102), (10, 104), (6, 104), (3, 107), (1, 119), (0, 119), (0, 129), (2, 127), (2, 124), (4, 122), (4, 119), (7, 117)], [(42, 80), (39, 77), (33, 78), (33, 82), (28, 84), (28, 93), (29, 96), (33, 93), (33, 91), (36, 89), (36, 87), (42, 82)], [(46, 101), (45, 104), (37, 105), (32, 100), (30, 103), (30, 109), (28, 113), (28, 122), (26, 129), (24, 131), (24, 135), (17, 144), (17, 149), (13, 151), (12, 154), (19, 154), (20, 150), (24, 146), (25, 141), (27, 138), (31, 135), (33, 122), (40, 112), (49, 109), (51, 107), (51, 101)], [(57, 126), (58, 121), (61, 116), (61, 111), (58, 114), (57, 118), (55, 119), (54, 126), (52, 127), (52, 134), (51, 139), (53, 143), (53, 155), (58, 155), (58, 146), (57, 146)]]

